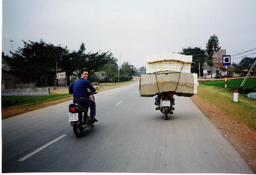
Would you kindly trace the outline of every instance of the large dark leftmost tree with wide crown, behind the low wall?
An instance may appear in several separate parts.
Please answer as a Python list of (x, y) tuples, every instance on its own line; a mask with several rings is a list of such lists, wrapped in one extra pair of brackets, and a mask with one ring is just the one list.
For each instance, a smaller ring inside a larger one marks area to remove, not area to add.
[[(11, 68), (11, 74), (20, 77), (22, 82), (41, 82), (41, 75), (51, 76), (55, 72), (56, 62), (59, 61), (62, 49), (43, 40), (40, 42), (24, 43), (24, 48), (10, 52), (12, 57), (6, 57)], [(55, 75), (55, 74), (53, 74)], [(53, 78), (52, 78), (53, 79)]]

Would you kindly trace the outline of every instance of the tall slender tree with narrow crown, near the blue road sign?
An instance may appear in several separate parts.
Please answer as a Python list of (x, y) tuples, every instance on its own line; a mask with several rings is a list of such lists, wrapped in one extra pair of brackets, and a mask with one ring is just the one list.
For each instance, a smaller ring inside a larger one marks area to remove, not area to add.
[(212, 56), (214, 52), (217, 52), (221, 47), (218, 46), (218, 37), (214, 34), (210, 37), (208, 42), (206, 43), (206, 52), (208, 54), (207, 64), (212, 67), (213, 66), (213, 60)]

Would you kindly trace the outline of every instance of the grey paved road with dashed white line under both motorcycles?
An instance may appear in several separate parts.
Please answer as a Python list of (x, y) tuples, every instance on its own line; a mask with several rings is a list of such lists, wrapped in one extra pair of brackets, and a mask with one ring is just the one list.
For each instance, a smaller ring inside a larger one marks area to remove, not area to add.
[(2, 120), (3, 172), (253, 173), (189, 98), (164, 120), (139, 83), (95, 95), (98, 123), (76, 138), (68, 104)]

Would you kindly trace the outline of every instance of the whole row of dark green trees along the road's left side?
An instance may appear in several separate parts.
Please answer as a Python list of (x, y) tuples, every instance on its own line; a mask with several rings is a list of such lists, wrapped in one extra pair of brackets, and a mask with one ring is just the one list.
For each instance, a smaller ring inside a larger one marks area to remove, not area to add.
[[(66, 72), (67, 84), (70, 84), (70, 75), (76, 72), (80, 75), (81, 69), (87, 68), (90, 70), (90, 75), (93, 72), (104, 71), (104, 78), (111, 79), (110, 82), (117, 82), (118, 65), (117, 59), (113, 54), (108, 52), (86, 53), (84, 43), (81, 43), (79, 50), (70, 51), (62, 48), (61, 45), (54, 46), (51, 43), (47, 44), (43, 40), (40, 42), (25, 42), (24, 47), (19, 47), (15, 52), (10, 52), (12, 57), (3, 56), (7, 64), (10, 66), (12, 75), (20, 77), (21, 82), (36, 82), (36, 86), (45, 85), (43, 80), (47, 80), (47, 85), (55, 85), (56, 62), (58, 68), (62, 72)], [(123, 70), (126, 68), (123, 67)], [(127, 72), (126, 72), (127, 73)], [(131, 70), (128, 72), (128, 77), (132, 78)], [(109, 81), (108, 80), (108, 81)], [(105, 81), (105, 80), (103, 80)]]

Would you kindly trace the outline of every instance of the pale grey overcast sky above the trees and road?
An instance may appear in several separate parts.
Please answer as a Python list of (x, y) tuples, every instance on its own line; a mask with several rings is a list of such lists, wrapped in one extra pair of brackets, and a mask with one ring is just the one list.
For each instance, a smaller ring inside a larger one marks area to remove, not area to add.
[(255, 8), (256, 0), (3, 0), (2, 52), (10, 55), (22, 40), (70, 51), (83, 42), (87, 53), (110, 51), (120, 60), (122, 52), (121, 64), (139, 69), (146, 55), (205, 49), (216, 34), (232, 56), (256, 48)]

